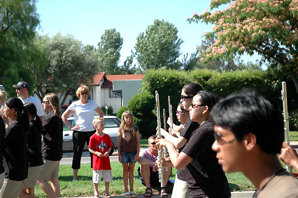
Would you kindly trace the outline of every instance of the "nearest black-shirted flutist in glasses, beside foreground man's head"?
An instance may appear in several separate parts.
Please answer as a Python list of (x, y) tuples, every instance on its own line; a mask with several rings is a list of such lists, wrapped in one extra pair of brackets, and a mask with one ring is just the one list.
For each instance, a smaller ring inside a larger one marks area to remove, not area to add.
[(213, 125), (209, 121), (212, 107), (218, 96), (207, 90), (199, 91), (192, 99), (190, 119), (198, 122), (195, 130), (179, 153), (174, 145), (166, 139), (158, 137), (158, 148), (168, 149), (170, 160), (175, 168), (185, 168), (185, 178), (189, 189), (189, 198), (230, 198), (227, 179), (218, 164), (216, 152), (211, 149), (214, 138)]

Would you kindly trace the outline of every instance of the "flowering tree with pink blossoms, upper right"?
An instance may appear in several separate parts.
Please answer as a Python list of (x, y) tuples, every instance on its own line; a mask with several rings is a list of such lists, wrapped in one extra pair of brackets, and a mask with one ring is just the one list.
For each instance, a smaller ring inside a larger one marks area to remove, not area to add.
[(298, 93), (298, 0), (211, 0), (210, 9), (188, 19), (215, 25), (205, 33), (206, 38), (215, 36), (215, 43), (201, 61), (258, 53), (277, 63)]

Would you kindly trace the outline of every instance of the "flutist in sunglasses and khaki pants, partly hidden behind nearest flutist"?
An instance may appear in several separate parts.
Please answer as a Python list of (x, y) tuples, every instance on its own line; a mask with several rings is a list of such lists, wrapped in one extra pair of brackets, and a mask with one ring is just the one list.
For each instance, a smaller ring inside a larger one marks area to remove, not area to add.
[[(197, 95), (198, 91), (201, 90), (203, 90), (202, 86), (197, 83), (188, 83), (183, 86), (180, 102), (183, 106), (184, 111), (189, 112), (192, 98)], [(179, 152), (181, 152), (190, 139), (191, 133), (198, 129), (199, 126), (199, 123), (191, 121), (190, 117), (188, 116), (185, 124), (183, 125), (183, 128), (180, 130), (178, 138), (174, 137), (168, 132), (165, 132), (164, 130), (161, 130), (161, 135), (172, 142), (175, 148), (179, 149)], [(188, 198), (188, 188), (184, 169), (177, 169), (172, 198)]]

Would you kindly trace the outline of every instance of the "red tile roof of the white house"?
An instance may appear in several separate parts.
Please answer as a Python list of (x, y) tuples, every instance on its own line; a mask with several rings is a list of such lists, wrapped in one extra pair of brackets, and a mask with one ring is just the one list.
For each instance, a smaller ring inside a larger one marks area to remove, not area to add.
[(104, 82), (102, 87), (113, 87), (114, 80), (142, 80), (145, 74), (129, 74), (129, 75), (106, 75), (105, 72), (99, 72), (93, 77), (92, 86), (99, 86), (102, 78)]

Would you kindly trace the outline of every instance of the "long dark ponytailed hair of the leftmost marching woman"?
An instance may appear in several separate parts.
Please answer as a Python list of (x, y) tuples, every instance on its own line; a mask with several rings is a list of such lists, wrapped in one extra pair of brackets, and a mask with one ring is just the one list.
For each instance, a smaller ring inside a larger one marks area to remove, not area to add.
[(21, 123), (24, 128), (24, 132), (29, 130), (29, 115), (27, 110), (24, 108), (23, 102), (17, 97), (8, 98), (5, 102), (9, 109), (15, 109), (16, 120)]

